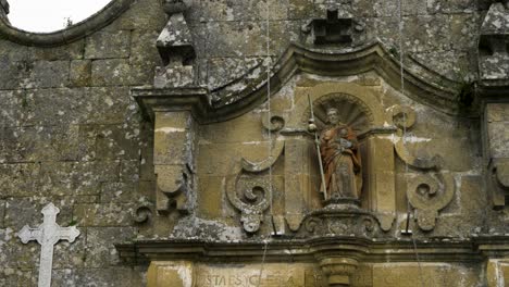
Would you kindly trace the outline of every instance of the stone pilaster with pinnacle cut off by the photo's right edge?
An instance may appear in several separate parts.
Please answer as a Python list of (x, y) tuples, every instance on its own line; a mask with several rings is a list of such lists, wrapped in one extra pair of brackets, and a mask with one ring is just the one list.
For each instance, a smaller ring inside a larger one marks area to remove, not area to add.
[(487, 189), (495, 209), (509, 196), (509, 9), (493, 3), (481, 27), (479, 42), (480, 92)]

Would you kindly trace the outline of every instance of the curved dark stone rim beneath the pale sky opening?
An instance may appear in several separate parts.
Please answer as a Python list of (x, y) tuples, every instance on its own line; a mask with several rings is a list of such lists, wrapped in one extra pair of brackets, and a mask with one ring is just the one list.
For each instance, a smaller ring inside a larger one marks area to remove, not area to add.
[(25, 46), (55, 47), (90, 35), (122, 15), (135, 0), (112, 0), (102, 10), (69, 28), (51, 33), (33, 33), (11, 26), (0, 17), (0, 38)]

